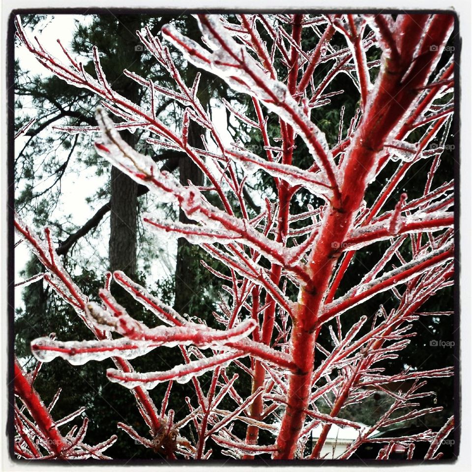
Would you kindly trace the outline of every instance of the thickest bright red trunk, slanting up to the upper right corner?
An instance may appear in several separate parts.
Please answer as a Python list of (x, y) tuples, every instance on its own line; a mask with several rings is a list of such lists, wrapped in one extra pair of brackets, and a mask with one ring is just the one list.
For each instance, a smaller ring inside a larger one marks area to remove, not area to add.
[[(400, 37), (422, 36), (426, 19), (418, 23), (409, 15), (405, 16), (408, 18), (402, 23)], [(442, 44), (451, 24), (451, 17), (443, 17), (437, 22), (435, 36), (429, 38), (431, 44)], [(425, 85), (437, 58), (437, 50), (429, 48), (427, 44), (423, 48), (428, 49), (416, 57), (413, 57), (413, 46), (409, 42), (401, 46), (399, 59), (386, 59), (383, 72), (377, 79), (377, 92), (365, 111), (356, 138), (344, 160), (344, 169), (341, 169), (343, 181), (340, 199), (331, 201), (330, 211), (324, 218), (322, 231), (312, 251), (309, 263), (311, 282), (301, 289), (291, 337), (291, 354), (300, 373), (291, 374), (290, 377), (288, 407), (282, 419), (274, 456), (277, 459), (294, 457), (305, 420), (304, 410), (308, 407), (314, 345), (318, 335), (315, 329), (329, 280), (340, 255), (333, 247), (341, 247), (346, 239), (364, 198), (368, 180), (373, 177), (378, 152), (383, 149), (391, 131), (403, 122), (402, 118), (417, 98), (418, 88)]]

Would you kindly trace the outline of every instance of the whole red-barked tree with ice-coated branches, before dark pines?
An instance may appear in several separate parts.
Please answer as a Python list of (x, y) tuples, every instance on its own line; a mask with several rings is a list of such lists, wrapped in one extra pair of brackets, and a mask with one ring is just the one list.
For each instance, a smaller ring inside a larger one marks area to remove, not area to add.
[[(222, 280), (225, 291), (219, 309), (200, 313), (202, 319), (177, 313), (121, 271), (107, 273), (98, 294), (84, 294), (61, 265), (50, 231), (46, 228), (41, 238), (17, 216), (18, 236), (45, 268), (28, 282), (42, 279), (49, 284), (75, 309), (77, 322), (91, 331), (86, 341), (34, 339), (31, 352), (40, 363), (56, 357), (72, 364), (112, 358), (116, 368), (106, 375), (134, 395), (149, 434), (143, 437), (123, 423), (118, 428), (165, 457), (207, 459), (211, 444), (217, 443), (234, 458), (264, 454), (273, 459), (319, 459), (331, 426), (338, 425), (358, 430), (357, 439), (339, 456), (348, 459), (361, 444), (373, 441), (369, 436), (376, 429), (440, 411), (441, 406), (415, 407), (434, 395), (424, 389), (426, 379), (453, 374), (450, 367), (389, 375), (382, 362), (402, 355), (420, 317), (450, 314), (424, 312), (421, 307), (453, 283), (453, 182), (434, 183), (453, 113), (454, 62), (446, 43), (454, 18), (339, 13), (201, 14), (196, 19), (200, 43), (172, 25), (157, 36), (149, 29), (137, 31), (148, 53), (175, 81), (175, 88), (168, 89), (124, 70), (148, 93), (148, 107), (113, 90), (96, 48), (92, 77), (64, 47), (63, 60), (49, 54), (17, 20), (18, 37), (46, 69), (102, 100), (96, 127), (62, 130), (96, 133), (95, 148), (101, 156), (146, 185), (160, 202), (180, 207), (194, 223), (148, 214), (145, 225), (204, 249), (219, 262), (204, 265)], [(307, 49), (302, 40), (308, 36), (316, 38), (314, 49)], [(335, 36), (343, 38), (343, 47), (333, 47)], [(199, 88), (205, 87), (199, 75), (193, 84), (182, 80), (173, 60), (176, 50), (249, 97), (250, 111), (223, 103), (234, 118), (260, 133), (261, 152), (244, 139), (226, 142), (221, 124), (199, 101)], [(372, 59), (375, 50), (382, 52), (381, 59)], [(320, 80), (319, 68), (327, 65)], [(330, 89), (338, 74), (345, 74), (358, 90), (359, 109), (347, 127), (341, 111), (337, 142), (329, 144), (312, 112), (329, 107), (330, 97), (343, 93)], [(181, 123), (169, 127), (156, 116), (159, 96), (183, 106)], [(275, 139), (268, 132), (269, 118), (278, 126)], [(188, 143), (191, 120), (206, 130), (203, 149)], [(118, 133), (136, 128), (146, 132), (149, 145), (190, 156), (204, 173), (205, 184), (184, 185), (160, 172), (158, 164)], [(312, 158), (307, 168), (294, 153), (301, 146)], [(409, 199), (405, 176), (422, 159), (429, 166), (424, 189), (421, 196)], [(396, 169), (375, 201), (367, 204), (369, 186), (392, 162)], [(251, 193), (248, 183), (261, 175), (273, 179), (276, 192), (267, 195), (260, 214), (255, 214), (244, 193)], [(407, 192), (388, 209), (400, 185)], [(302, 190), (320, 203), (292, 213), (291, 202)], [(349, 282), (346, 274), (356, 264), (356, 253), (372, 245), (387, 249), (375, 265), (362, 267), (362, 280), (343, 293), (340, 288)], [(225, 270), (220, 270), (221, 263)], [(111, 294), (111, 283), (152, 312), (155, 326), (127, 313)], [(394, 298), (390, 311), (379, 303), (370, 318), (343, 322), (346, 313), (355, 313), (358, 305), (383, 292)], [(218, 328), (208, 326), (211, 317)], [(322, 335), (330, 336), (331, 350), (320, 343)], [(166, 370), (156, 366), (154, 372), (133, 369), (129, 359), (161, 346), (179, 350), (182, 363)], [(236, 370), (233, 376), (228, 366)], [(211, 375), (207, 389), (199, 381), (205, 373)], [(252, 382), (250, 395), (238, 392), (236, 380), (242, 376)], [(52, 406), (44, 406), (33, 380), (16, 362), (15, 452), (26, 458), (104, 458), (102, 452), (116, 437), (96, 446), (85, 444), (86, 421), (79, 431), (73, 428), (63, 436), (57, 427), (62, 423), (54, 422)], [(194, 400), (185, 398), (187, 413), (179, 417), (167, 409), (174, 382), (188, 383), (189, 392), (196, 395)], [(391, 407), (375, 425), (342, 417), (343, 407), (361, 403), (376, 389), (386, 391), (383, 385), (392, 382), (407, 382), (408, 388), (389, 392)], [(153, 399), (148, 392), (159, 383), (167, 383), (166, 394)], [(233, 401), (232, 410), (221, 407), (225, 398)], [(317, 402), (326, 398), (332, 399), (330, 412), (322, 413)], [(236, 422), (245, 424), (245, 437), (235, 434)], [(197, 431), (195, 438), (183, 434), (187, 423)], [(312, 429), (320, 424), (321, 435), (308, 447)], [(272, 443), (258, 440), (261, 429), (273, 434)], [(452, 429), (451, 417), (438, 433), (426, 429), (415, 436), (384, 438), (378, 458), (388, 459), (396, 445), (405, 446), (411, 458), (417, 441), (430, 442), (426, 458), (439, 458), (441, 441)]]

